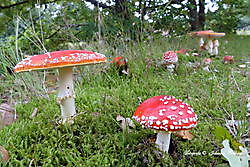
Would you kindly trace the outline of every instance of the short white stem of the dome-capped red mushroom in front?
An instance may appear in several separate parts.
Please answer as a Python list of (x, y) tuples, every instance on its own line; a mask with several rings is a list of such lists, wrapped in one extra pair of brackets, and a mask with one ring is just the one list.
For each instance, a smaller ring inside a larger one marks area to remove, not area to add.
[(170, 137), (171, 137), (171, 133), (158, 132), (155, 144), (160, 150), (164, 152), (168, 152), (169, 145), (170, 145)]

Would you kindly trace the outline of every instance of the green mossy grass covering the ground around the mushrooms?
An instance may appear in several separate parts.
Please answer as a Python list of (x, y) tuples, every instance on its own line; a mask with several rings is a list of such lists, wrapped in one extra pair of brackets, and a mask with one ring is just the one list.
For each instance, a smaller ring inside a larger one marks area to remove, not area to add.
[[(180, 57), (176, 74), (154, 65), (146, 66), (146, 59), (160, 60), (164, 51), (195, 48), (195, 42), (187, 38), (128, 46), (123, 56), (129, 59), (129, 77), (118, 76), (113, 69), (105, 68), (106, 65), (82, 67), (75, 92), (77, 112), (84, 114), (77, 116), (74, 125), (62, 126), (57, 124), (60, 110), (56, 95), (50, 95), (49, 99), (32, 97), (27, 104), (18, 104), (19, 120), (0, 131), (0, 145), (10, 154), (9, 161), (2, 165), (191, 167), (225, 163), (222, 156), (209, 155), (222, 148), (212, 131), (216, 125), (224, 126), (224, 120), (230, 119), (228, 113), (233, 113), (236, 120), (246, 120), (243, 95), (249, 93), (249, 80), (242, 75), (245, 69), (237, 65), (249, 56), (250, 39), (228, 36), (221, 41), (221, 54), (214, 58), (211, 67), (218, 72), (186, 66), (189, 60), (202, 61), (207, 56), (205, 53), (195, 58)], [(106, 55), (109, 60), (115, 56)], [(235, 64), (224, 65), (224, 55), (233, 55)], [(34, 75), (37, 76), (37, 72)], [(0, 87), (3, 90), (4, 85)], [(153, 131), (137, 125), (127, 133), (116, 121), (118, 114), (131, 117), (139, 99), (160, 94), (187, 102), (199, 118), (197, 127), (192, 130), (194, 139), (185, 141), (172, 135), (174, 154), (164, 156), (147, 140), (154, 135)], [(35, 108), (39, 111), (37, 116), (29, 119)], [(203, 155), (185, 155), (187, 151)]]

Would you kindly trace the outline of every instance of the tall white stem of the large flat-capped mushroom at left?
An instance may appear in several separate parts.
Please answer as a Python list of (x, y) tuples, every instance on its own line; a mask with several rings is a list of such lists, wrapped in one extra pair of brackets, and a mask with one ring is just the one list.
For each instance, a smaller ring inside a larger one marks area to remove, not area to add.
[(59, 92), (57, 102), (61, 107), (62, 123), (72, 122), (76, 114), (72, 67), (59, 69)]

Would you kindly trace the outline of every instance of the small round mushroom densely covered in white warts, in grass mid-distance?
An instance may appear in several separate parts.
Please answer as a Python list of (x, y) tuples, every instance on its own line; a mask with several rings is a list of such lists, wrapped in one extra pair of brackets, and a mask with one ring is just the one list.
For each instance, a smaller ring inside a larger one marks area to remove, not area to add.
[(174, 51), (167, 51), (163, 54), (163, 64), (169, 69), (171, 72), (175, 68), (176, 63), (178, 62), (178, 56)]

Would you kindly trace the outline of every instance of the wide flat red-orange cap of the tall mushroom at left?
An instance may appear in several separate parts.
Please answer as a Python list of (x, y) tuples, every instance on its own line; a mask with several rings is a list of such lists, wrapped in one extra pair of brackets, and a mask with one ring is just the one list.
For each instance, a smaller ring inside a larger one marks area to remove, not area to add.
[(39, 69), (96, 64), (106, 62), (106, 60), (107, 58), (103, 54), (86, 50), (55, 51), (27, 57), (14, 67), (14, 71), (22, 72)]

